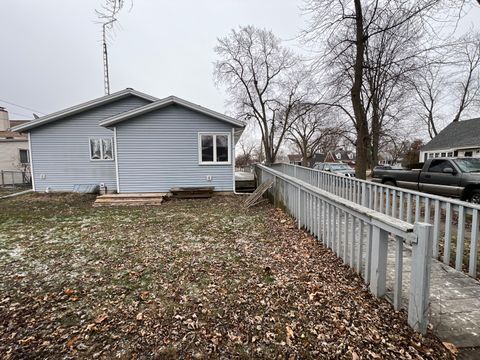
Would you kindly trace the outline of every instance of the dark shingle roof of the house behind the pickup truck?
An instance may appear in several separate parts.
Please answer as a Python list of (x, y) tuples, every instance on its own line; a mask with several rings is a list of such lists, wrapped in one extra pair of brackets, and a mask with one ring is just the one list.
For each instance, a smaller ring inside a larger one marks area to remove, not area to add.
[(480, 118), (450, 123), (422, 151), (480, 147)]

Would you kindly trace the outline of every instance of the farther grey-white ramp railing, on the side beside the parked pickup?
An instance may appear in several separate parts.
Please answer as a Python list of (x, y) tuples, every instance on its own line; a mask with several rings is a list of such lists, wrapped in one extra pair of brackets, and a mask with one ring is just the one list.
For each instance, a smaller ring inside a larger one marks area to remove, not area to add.
[(302, 166), (274, 164), (272, 168), (410, 224), (432, 224), (433, 256), (471, 277), (480, 277), (479, 205)]

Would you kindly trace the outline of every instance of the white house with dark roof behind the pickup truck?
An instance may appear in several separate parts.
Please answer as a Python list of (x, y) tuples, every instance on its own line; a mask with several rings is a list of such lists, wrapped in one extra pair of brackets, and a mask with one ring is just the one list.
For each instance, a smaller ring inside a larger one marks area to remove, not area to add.
[(436, 157), (480, 157), (480, 118), (450, 123), (420, 150), (420, 162)]

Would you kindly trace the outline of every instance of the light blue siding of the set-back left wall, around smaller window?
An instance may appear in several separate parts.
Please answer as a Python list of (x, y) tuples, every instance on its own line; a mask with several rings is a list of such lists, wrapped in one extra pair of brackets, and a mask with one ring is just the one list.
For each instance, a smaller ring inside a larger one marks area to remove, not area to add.
[(110, 116), (148, 104), (129, 96), (47, 124), (30, 132), (36, 191), (72, 191), (75, 184), (105, 183), (116, 189), (115, 161), (90, 160), (89, 139), (111, 138), (98, 123)]

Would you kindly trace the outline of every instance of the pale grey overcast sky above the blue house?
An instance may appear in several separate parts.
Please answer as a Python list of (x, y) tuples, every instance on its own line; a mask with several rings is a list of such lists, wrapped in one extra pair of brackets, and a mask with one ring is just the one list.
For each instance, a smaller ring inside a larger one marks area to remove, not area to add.
[[(472, 0), (473, 1), (473, 0)], [(0, 106), (11, 118), (47, 114), (103, 95), (100, 0), (0, 1)], [(112, 92), (133, 87), (176, 95), (226, 111), (213, 82), (217, 37), (240, 25), (295, 38), (304, 26), (301, 0), (129, 0), (109, 46)], [(480, 19), (464, 19), (467, 28)], [(295, 41), (289, 41), (295, 45)]]

